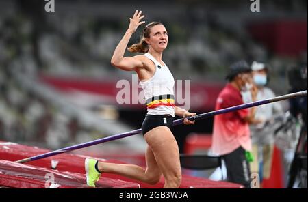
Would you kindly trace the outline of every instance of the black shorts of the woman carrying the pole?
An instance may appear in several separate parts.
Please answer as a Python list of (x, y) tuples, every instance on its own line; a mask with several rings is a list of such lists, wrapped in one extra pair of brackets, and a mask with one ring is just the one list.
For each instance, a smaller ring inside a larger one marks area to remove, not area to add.
[(167, 126), (171, 128), (172, 125), (173, 117), (171, 115), (146, 115), (141, 126), (142, 134), (144, 135), (146, 132), (158, 126)]

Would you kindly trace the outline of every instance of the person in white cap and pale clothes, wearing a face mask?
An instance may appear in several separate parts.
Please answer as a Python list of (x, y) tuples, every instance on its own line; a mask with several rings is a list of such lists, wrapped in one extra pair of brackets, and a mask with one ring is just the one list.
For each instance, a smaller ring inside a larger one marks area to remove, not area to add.
[[(268, 66), (265, 63), (253, 61), (253, 82), (257, 87), (257, 96), (253, 99), (250, 92), (242, 93), (244, 103), (266, 100), (274, 98), (275, 94), (268, 84)], [(251, 162), (251, 172), (259, 173), (260, 181), (270, 178), (272, 167), (272, 154), (274, 149), (274, 124), (275, 118), (283, 114), (282, 106), (279, 102), (257, 106), (255, 118), (261, 120), (259, 124), (251, 124), (251, 139), (253, 143), (253, 162)]]

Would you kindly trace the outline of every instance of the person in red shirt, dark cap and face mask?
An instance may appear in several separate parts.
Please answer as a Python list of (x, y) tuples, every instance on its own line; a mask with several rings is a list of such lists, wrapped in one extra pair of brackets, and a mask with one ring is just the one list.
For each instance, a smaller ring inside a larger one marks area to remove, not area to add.
[[(229, 67), (227, 85), (219, 93), (215, 110), (244, 104), (242, 91), (250, 91), (253, 101), (257, 87), (253, 85), (251, 67), (246, 61), (238, 61)], [(225, 113), (214, 117), (211, 152), (220, 155), (227, 169), (229, 182), (243, 184), (250, 188), (251, 171), (248, 163), (251, 157), (251, 133), (248, 124), (259, 124), (255, 119), (255, 107)]]

